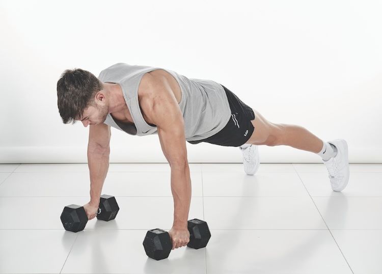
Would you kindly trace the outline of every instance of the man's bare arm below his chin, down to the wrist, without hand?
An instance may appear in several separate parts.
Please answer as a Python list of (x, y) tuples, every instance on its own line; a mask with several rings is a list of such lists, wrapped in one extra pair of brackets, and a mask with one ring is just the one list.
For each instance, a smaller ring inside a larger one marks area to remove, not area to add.
[(88, 166), (90, 172), (90, 204), (98, 207), (102, 186), (109, 167), (110, 126), (90, 125), (88, 143)]

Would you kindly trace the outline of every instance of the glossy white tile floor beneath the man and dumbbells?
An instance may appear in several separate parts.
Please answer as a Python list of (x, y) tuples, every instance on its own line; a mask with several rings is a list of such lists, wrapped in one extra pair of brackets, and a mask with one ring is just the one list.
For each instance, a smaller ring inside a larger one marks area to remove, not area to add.
[(382, 273), (382, 165), (351, 164), (342, 193), (322, 164), (190, 164), (189, 217), (207, 248), (147, 258), (148, 229), (170, 229), (166, 163), (111, 164), (116, 220), (65, 231), (65, 205), (89, 201), (87, 164), (0, 165), (0, 273)]

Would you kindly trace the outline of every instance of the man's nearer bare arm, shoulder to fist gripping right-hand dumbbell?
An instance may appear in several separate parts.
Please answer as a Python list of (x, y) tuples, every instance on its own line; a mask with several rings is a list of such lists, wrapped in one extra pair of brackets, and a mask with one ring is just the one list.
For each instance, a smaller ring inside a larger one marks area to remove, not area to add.
[(163, 79), (150, 80), (151, 112), (148, 116), (158, 131), (163, 154), (171, 167), (171, 191), (174, 199), (174, 222), (169, 231), (173, 249), (185, 246), (189, 240), (187, 219), (191, 201), (184, 120), (170, 86)]

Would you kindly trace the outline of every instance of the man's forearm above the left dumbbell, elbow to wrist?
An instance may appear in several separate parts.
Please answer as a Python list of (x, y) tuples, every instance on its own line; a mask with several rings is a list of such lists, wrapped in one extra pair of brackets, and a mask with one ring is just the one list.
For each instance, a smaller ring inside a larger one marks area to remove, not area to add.
[(103, 183), (109, 168), (110, 148), (88, 148), (90, 203), (98, 206)]

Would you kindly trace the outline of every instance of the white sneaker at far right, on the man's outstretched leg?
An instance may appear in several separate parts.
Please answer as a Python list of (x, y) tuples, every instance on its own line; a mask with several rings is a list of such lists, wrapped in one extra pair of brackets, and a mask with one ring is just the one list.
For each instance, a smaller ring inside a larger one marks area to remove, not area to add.
[(334, 191), (343, 190), (349, 181), (349, 160), (347, 143), (343, 139), (328, 141), (337, 148), (337, 155), (328, 161), (323, 161), (329, 172), (329, 179)]

